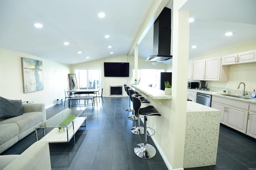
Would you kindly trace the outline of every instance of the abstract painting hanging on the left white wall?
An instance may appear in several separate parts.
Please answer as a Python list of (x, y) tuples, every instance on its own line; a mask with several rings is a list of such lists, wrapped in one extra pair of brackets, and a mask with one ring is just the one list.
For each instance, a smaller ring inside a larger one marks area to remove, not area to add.
[(22, 57), (21, 63), (24, 93), (44, 90), (42, 61)]

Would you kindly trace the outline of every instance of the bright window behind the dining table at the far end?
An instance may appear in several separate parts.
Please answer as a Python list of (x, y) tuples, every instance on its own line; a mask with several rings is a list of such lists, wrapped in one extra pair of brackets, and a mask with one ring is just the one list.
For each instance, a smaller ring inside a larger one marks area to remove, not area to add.
[(100, 68), (74, 68), (80, 89), (100, 88)]

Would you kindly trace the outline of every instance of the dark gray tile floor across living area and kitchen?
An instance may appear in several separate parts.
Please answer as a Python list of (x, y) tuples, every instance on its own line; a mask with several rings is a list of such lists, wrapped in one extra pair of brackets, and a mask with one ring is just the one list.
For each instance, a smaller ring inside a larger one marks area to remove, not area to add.
[[(125, 111), (128, 100), (128, 97), (104, 98), (103, 105), (98, 103), (98, 107), (94, 108), (88, 106), (86, 127), (81, 127), (76, 133), (76, 145), (50, 143), (52, 169), (168, 169), (158, 150), (156, 156), (149, 160), (141, 159), (134, 154), (133, 148), (143, 141), (143, 136), (130, 132), (136, 121), (127, 119), (131, 114)], [(46, 109), (47, 119), (63, 109), (64, 104)], [(42, 132), (39, 132), (39, 136), (42, 137)], [(35, 133), (31, 133), (2, 154), (21, 154), (35, 141)], [(150, 137), (148, 143), (155, 147)], [(186, 170), (256, 170), (256, 140), (220, 126), (216, 165)]]

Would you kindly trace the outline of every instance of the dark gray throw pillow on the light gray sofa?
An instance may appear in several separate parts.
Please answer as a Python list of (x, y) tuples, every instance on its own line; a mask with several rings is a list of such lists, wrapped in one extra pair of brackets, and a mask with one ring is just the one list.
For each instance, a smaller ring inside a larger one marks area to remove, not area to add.
[(0, 118), (10, 118), (22, 114), (21, 100), (10, 100), (0, 96)]

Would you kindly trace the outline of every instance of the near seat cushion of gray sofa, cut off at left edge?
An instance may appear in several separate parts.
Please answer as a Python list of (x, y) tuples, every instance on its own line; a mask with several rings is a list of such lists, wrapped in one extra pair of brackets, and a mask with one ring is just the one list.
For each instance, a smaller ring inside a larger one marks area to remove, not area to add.
[(19, 127), (16, 123), (7, 123), (0, 125), (0, 145), (12, 139), (19, 133)]

